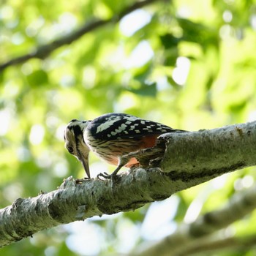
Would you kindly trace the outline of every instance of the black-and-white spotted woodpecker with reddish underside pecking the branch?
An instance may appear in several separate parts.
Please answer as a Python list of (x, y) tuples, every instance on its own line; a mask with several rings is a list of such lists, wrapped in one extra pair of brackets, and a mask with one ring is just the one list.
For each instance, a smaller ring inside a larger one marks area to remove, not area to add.
[(186, 131), (126, 113), (106, 113), (89, 121), (72, 119), (64, 129), (64, 141), (67, 151), (82, 163), (87, 178), (91, 178), (90, 151), (110, 165), (117, 166), (112, 174), (99, 173), (97, 177), (115, 178), (121, 167), (139, 165), (138, 159), (127, 159), (125, 155), (154, 147), (159, 135), (167, 132)]

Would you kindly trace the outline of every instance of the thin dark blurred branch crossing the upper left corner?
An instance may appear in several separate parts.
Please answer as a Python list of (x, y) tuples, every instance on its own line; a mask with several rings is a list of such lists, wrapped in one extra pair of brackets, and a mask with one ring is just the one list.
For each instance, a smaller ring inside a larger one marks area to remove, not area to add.
[(152, 4), (157, 0), (144, 0), (144, 1), (138, 1), (134, 4), (127, 7), (125, 10), (121, 11), (118, 15), (115, 15), (113, 18), (110, 18), (108, 20), (94, 20), (89, 23), (83, 24), (83, 26), (80, 26), (76, 31), (73, 31), (70, 34), (64, 35), (63, 37), (60, 37), (58, 39), (55, 39), (53, 42), (50, 42), (45, 45), (39, 46), (36, 50), (33, 50), (31, 53), (24, 54), (23, 56), (19, 56), (14, 59), (10, 59), (9, 61), (6, 61), (4, 63), (0, 64), (0, 72), (6, 69), (7, 67), (10, 67), (12, 65), (22, 64), (25, 61), (28, 61), (32, 58), (37, 59), (45, 59), (50, 55), (50, 53), (53, 52), (53, 50), (56, 50), (57, 48), (60, 48), (63, 45), (69, 45), (75, 40), (82, 37), (84, 34), (89, 33), (90, 31), (93, 31), (94, 29), (98, 29), (101, 26), (104, 26), (108, 23), (117, 23), (121, 18), (123, 18), (125, 15), (127, 15), (129, 12), (133, 12), (134, 10), (137, 10), (139, 8), (145, 7), (148, 4)]

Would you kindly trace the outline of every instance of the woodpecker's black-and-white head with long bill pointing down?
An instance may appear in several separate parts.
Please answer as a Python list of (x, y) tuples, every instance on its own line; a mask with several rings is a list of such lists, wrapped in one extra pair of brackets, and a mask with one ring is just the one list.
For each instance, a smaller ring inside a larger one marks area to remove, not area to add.
[(88, 178), (90, 176), (89, 170), (89, 147), (83, 140), (83, 132), (91, 121), (79, 121), (73, 119), (67, 124), (64, 130), (65, 148), (70, 154), (78, 158), (83, 164), (83, 168), (86, 171)]

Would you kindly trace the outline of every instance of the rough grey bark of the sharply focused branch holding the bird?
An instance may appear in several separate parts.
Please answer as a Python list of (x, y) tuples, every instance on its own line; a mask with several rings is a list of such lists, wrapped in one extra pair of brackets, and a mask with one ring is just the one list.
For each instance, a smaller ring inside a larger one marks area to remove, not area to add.
[[(162, 135), (156, 156), (159, 158), (163, 144), (166, 151), (158, 167), (144, 164), (144, 168), (124, 173), (114, 184), (99, 179), (77, 183), (68, 178), (53, 192), (19, 198), (0, 210), (0, 246), (56, 225), (132, 211), (222, 173), (256, 165), (255, 128), (256, 122), (252, 122)], [(138, 159), (144, 163), (143, 154)]]

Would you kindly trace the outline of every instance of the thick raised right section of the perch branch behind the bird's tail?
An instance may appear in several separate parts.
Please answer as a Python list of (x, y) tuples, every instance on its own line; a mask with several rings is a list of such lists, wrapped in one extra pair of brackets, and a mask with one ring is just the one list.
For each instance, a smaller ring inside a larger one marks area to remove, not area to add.
[(256, 121), (169, 135), (161, 136), (167, 151), (160, 167), (174, 180), (203, 181), (256, 164)]

